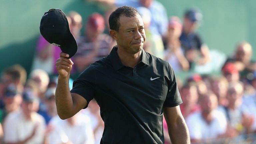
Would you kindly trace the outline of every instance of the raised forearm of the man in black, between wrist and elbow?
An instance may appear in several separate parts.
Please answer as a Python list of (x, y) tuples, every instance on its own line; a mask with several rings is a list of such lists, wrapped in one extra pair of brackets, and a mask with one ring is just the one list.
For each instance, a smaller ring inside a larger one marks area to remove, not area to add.
[(72, 117), (73, 100), (70, 94), (69, 77), (58, 78), (58, 85), (55, 93), (57, 112), (61, 119)]

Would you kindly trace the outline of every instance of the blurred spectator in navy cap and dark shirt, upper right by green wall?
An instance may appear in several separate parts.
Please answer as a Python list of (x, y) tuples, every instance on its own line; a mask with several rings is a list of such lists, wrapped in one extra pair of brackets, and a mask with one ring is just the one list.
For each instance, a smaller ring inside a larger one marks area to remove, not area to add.
[[(202, 14), (196, 9), (188, 9), (184, 14), (183, 28), (180, 36), (181, 47), (185, 52), (186, 58), (190, 63), (206, 64), (210, 60), (209, 49), (203, 43), (201, 37), (196, 32)], [(199, 55), (197, 54), (199, 52)]]

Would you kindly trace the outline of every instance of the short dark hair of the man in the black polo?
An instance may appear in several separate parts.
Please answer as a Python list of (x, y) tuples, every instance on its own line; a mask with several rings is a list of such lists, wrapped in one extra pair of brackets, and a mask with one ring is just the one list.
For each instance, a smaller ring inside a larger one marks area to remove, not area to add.
[(126, 17), (134, 17), (139, 14), (138, 10), (131, 6), (118, 7), (115, 11), (111, 13), (108, 19), (109, 28), (111, 30), (119, 31), (120, 23), (119, 18), (121, 15)]

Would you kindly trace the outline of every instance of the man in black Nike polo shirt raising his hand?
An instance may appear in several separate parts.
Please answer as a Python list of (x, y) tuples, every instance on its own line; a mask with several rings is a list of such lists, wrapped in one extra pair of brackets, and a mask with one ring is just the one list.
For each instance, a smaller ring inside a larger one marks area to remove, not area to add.
[(146, 36), (138, 11), (119, 7), (110, 15), (109, 25), (117, 46), (81, 73), (71, 92), (68, 79), (74, 63), (67, 59), (68, 54), (60, 53), (56, 62), (60, 118), (72, 117), (94, 98), (105, 124), (101, 144), (162, 144), (163, 114), (172, 143), (190, 143), (173, 69), (143, 50)]

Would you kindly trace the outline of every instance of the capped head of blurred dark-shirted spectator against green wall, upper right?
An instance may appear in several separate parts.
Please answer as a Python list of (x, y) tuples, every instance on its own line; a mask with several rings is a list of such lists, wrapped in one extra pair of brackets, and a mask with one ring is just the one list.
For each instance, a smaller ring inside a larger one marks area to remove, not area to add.
[(202, 17), (202, 14), (198, 10), (188, 9), (184, 14), (183, 31), (185, 33), (195, 31)]

